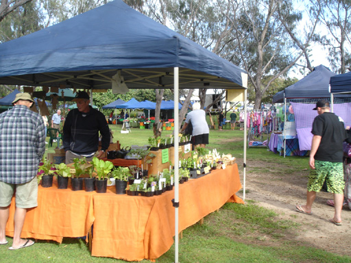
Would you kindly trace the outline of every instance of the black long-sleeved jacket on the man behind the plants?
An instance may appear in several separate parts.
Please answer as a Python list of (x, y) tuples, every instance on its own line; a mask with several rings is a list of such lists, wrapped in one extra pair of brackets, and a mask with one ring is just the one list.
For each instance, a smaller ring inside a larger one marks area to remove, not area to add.
[(73, 109), (67, 114), (63, 126), (63, 147), (74, 153), (89, 154), (99, 147), (101, 134), (101, 150), (110, 146), (110, 129), (104, 114), (91, 106), (88, 113)]

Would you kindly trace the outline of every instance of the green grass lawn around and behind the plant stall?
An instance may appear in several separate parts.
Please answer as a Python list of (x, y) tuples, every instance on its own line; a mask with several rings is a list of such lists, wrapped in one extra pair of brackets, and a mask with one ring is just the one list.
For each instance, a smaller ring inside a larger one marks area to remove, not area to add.
[[(121, 125), (110, 125), (114, 132), (114, 142), (119, 140), (122, 147), (147, 145), (152, 130), (132, 128), (130, 134), (121, 134)], [(173, 131), (164, 131), (162, 136)], [(220, 153), (232, 153), (240, 162), (243, 158), (243, 132), (210, 130), (209, 149), (216, 148)], [(53, 152), (53, 147), (47, 150)], [(265, 148), (248, 149), (247, 162), (267, 162), (267, 167), (276, 162), (286, 164), (287, 168), (277, 173), (289, 173), (289, 169), (305, 168), (308, 158), (280, 156)], [(282, 167), (285, 167), (282, 166)], [(267, 168), (269, 169), (269, 168)], [(274, 171), (274, 168), (270, 168)], [(241, 173), (241, 171), (239, 171)], [(265, 173), (265, 171), (262, 171)], [(40, 219), (40, 218), (39, 218)], [(38, 221), (40, 223), (40, 221)], [(226, 203), (219, 210), (204, 218), (204, 225), (195, 224), (183, 231), (180, 240), (179, 261), (194, 262), (351, 262), (350, 257), (328, 253), (321, 249), (304, 247), (303, 244), (289, 240), (299, 225), (293, 221), (282, 221), (272, 210), (261, 208), (254, 201), (245, 205)], [(8, 238), (10, 244), (11, 238)], [(256, 245), (255, 241), (270, 240), (268, 245)], [(84, 240), (64, 238), (62, 244), (38, 240), (36, 245), (19, 251), (9, 251), (8, 245), (0, 245), (0, 262), (124, 262), (111, 258), (90, 256)], [(173, 262), (174, 246), (156, 262)], [(149, 262), (143, 260), (142, 262)]]

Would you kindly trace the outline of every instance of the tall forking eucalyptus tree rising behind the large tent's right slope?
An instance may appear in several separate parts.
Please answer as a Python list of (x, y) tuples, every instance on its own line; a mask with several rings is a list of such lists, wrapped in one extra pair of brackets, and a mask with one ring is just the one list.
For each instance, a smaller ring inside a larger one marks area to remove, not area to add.
[[(287, 73), (303, 55), (294, 47), (282, 20), (293, 26), (299, 16), (284, 20), (279, 8), (285, 5), (285, 16), (293, 12), (291, 0), (228, 0), (223, 8), (225, 22), (230, 21), (231, 35), (223, 45), (221, 55), (230, 61), (239, 62), (247, 71), (254, 92), (254, 109), (259, 109), (265, 92), (275, 79)], [(224, 22), (223, 22), (224, 23)], [(269, 76), (268, 82), (263, 82)]]

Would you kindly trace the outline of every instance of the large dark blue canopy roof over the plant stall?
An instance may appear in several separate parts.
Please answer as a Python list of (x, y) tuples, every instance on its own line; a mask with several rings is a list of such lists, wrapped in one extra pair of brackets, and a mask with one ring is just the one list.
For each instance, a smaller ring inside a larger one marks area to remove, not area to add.
[(180, 88), (242, 88), (247, 77), (121, 0), (0, 45), (0, 84), (106, 89), (121, 69), (129, 88), (171, 88), (174, 67)]

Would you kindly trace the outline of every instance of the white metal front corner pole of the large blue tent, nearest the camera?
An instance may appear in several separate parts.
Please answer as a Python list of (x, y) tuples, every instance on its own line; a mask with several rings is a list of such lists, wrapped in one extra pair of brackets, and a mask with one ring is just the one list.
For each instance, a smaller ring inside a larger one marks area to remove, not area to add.
[(175, 208), (175, 226), (174, 226), (174, 243), (175, 243), (175, 255), (174, 262), (178, 263), (178, 244), (179, 244), (179, 229), (178, 229), (178, 207), (179, 207), (179, 68), (174, 68), (174, 202)]

